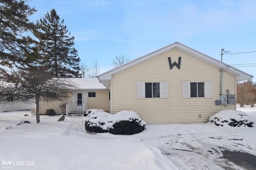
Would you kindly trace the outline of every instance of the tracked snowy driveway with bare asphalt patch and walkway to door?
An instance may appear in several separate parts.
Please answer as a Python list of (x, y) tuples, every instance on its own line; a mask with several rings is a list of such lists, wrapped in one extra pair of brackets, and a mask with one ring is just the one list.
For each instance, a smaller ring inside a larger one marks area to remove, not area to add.
[[(249, 113), (250, 114), (250, 113)], [(252, 117), (255, 115), (252, 113)], [(161, 150), (178, 169), (256, 169), (252, 165), (243, 164), (243, 168), (223, 158), (225, 150), (252, 154), (256, 159), (256, 128), (217, 127), (212, 124), (169, 124), (147, 125), (142, 133), (122, 136), (83, 133), (84, 117), (72, 117), (74, 124), (68, 128), (69, 135), (84, 135), (100, 139), (140, 140), (147, 146)], [(82, 123), (81, 123), (82, 122)], [(72, 131), (72, 134), (70, 134)], [(239, 163), (239, 162), (236, 162)]]

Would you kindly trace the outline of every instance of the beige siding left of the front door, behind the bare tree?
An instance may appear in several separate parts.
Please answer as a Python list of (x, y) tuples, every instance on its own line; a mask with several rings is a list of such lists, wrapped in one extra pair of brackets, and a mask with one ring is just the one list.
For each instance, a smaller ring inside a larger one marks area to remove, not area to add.
[[(62, 114), (62, 110), (60, 109), (60, 104), (64, 102), (65, 104), (68, 104), (68, 102), (71, 102), (71, 97), (69, 99), (66, 99), (64, 101), (54, 101), (54, 102), (42, 102), (40, 101), (40, 114), (45, 115), (45, 111), (47, 109), (54, 109), (56, 111), (57, 115)], [(66, 114), (66, 113), (64, 113)]]

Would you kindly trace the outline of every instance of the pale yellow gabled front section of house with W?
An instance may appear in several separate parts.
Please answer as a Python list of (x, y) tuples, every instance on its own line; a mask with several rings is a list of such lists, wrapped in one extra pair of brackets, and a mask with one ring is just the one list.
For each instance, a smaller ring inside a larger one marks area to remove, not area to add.
[(146, 123), (200, 123), (236, 109), (236, 82), (252, 75), (181, 43), (100, 74), (110, 113), (136, 111)]

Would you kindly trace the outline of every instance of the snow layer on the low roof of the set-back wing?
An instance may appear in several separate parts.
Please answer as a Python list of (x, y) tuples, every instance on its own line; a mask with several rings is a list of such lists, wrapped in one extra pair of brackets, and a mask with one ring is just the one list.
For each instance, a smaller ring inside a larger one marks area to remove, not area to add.
[(106, 87), (97, 78), (68, 78), (79, 89), (83, 90), (106, 90)]

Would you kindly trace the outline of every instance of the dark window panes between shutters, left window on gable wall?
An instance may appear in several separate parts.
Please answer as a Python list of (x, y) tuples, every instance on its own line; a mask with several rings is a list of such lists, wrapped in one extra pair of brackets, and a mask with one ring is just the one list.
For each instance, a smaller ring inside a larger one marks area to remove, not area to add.
[(160, 82), (145, 83), (146, 98), (160, 98)]

